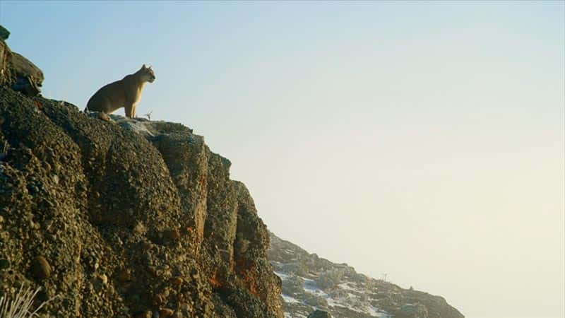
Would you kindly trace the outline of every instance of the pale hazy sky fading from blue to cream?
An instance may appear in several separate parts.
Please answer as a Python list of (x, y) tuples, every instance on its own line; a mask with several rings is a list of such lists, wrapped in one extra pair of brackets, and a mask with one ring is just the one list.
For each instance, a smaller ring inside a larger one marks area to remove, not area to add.
[[(6, 2), (44, 95), (151, 64), (283, 239), (470, 318), (565, 316), (565, 6)], [(119, 112), (123, 114), (123, 111)]]

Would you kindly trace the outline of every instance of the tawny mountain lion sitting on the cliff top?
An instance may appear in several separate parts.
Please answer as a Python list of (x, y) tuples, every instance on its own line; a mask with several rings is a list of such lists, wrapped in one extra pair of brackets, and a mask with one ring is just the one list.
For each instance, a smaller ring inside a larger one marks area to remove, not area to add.
[(136, 107), (141, 100), (141, 92), (145, 83), (153, 83), (155, 73), (151, 66), (141, 66), (136, 73), (129, 74), (119, 81), (102, 86), (88, 100), (85, 112), (100, 112), (100, 119), (108, 120), (107, 114), (112, 114), (121, 107), (126, 107), (126, 116), (136, 117)]

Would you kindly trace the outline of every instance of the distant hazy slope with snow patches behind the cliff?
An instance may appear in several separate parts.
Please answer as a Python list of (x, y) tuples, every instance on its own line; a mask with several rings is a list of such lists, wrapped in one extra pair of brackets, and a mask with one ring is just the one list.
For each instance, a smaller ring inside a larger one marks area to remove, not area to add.
[(313, 317), (309, 313), (319, 309), (348, 318), (464, 318), (444, 298), (370, 278), (273, 233), (268, 253), (283, 279), (285, 317)]

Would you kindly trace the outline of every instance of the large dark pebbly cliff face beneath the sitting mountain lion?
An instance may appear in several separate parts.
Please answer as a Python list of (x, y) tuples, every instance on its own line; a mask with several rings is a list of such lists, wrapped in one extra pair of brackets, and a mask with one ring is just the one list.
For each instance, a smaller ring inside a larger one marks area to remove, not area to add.
[(229, 160), (181, 124), (0, 86), (0, 295), (46, 317), (282, 317), (266, 226)]

